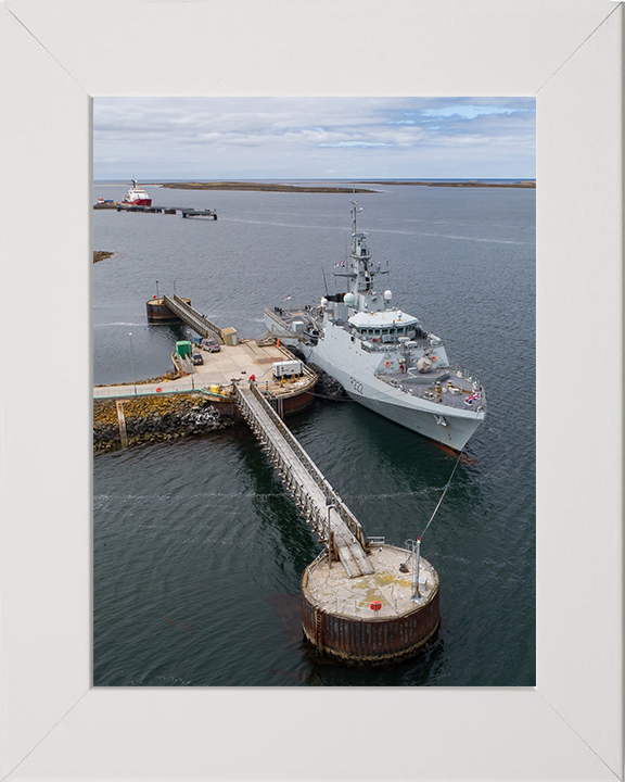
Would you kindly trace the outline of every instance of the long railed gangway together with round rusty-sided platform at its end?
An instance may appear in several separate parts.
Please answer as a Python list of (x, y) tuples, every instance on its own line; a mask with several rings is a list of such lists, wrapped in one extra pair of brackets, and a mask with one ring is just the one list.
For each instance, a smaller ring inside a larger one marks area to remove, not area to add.
[(302, 628), (319, 655), (355, 663), (409, 657), (439, 623), (438, 573), (418, 554), (367, 538), (359, 521), (267, 404), (239, 383), (237, 401), (288, 491), (326, 544), (302, 578)]

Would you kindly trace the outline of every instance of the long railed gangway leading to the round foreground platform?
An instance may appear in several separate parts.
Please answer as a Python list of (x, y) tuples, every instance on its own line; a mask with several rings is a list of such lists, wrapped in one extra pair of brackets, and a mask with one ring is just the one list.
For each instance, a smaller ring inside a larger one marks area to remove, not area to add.
[(307, 516), (330, 562), (340, 559), (349, 578), (374, 572), (367, 556), (369, 541), (362, 527), (293, 437), (271, 404), (252, 382), (234, 383), (237, 404), (256, 434), (286, 489)]

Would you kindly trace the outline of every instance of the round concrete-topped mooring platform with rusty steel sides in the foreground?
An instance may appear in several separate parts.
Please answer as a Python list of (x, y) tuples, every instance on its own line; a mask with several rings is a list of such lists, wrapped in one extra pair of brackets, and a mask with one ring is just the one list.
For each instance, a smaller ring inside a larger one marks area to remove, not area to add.
[[(412, 598), (412, 573), (398, 566), (409, 553), (372, 547), (375, 572), (348, 579), (324, 554), (302, 578), (302, 627), (318, 654), (349, 663), (383, 664), (419, 652), (439, 626), (438, 575), (421, 558), (421, 584)], [(380, 604), (378, 610), (371, 605)]]

